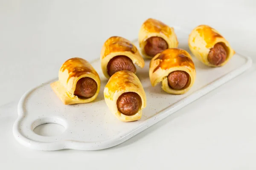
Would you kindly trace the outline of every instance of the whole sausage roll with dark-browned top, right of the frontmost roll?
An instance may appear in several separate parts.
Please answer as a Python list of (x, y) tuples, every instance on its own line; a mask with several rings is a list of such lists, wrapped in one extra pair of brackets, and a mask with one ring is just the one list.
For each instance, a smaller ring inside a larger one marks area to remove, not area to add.
[(195, 82), (195, 65), (189, 53), (169, 48), (151, 59), (149, 78), (152, 86), (162, 81), (162, 88), (170, 94), (184, 94)]

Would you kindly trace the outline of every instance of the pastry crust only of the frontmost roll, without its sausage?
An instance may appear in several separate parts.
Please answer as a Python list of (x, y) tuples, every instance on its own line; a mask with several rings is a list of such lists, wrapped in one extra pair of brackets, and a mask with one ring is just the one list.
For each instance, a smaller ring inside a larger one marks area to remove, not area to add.
[[(137, 93), (142, 101), (141, 109), (132, 116), (126, 116), (118, 111), (116, 102), (119, 96), (126, 92)], [(131, 71), (118, 71), (111, 76), (104, 89), (105, 102), (111, 113), (123, 122), (131, 122), (141, 118), (142, 109), (146, 107), (146, 95), (138, 77)]]

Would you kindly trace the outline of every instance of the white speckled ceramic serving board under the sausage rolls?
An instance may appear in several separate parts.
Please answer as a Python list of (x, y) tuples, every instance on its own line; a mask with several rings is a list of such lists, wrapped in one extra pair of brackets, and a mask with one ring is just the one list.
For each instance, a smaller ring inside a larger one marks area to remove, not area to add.
[[(175, 27), (175, 32), (179, 48), (189, 51), (189, 31)], [(138, 47), (138, 42), (134, 43)], [(56, 79), (45, 82), (26, 92), (20, 99), (18, 118), (13, 126), (14, 136), (21, 144), (36, 150), (99, 150), (113, 147), (238, 76), (251, 65), (249, 57), (239, 54), (235, 54), (227, 65), (221, 68), (207, 67), (195, 57), (193, 61), (197, 73), (195, 84), (186, 94), (172, 95), (164, 92), (161, 84), (151, 86), (148, 77), (149, 60), (145, 60), (145, 67), (137, 68), (137, 76), (146, 92), (147, 107), (143, 109), (140, 120), (121, 122), (105, 104), (103, 89), (107, 79), (102, 74), (98, 59), (92, 62), (101, 78), (100, 93), (95, 101), (63, 105), (50, 88), (50, 83)], [(45, 123), (57, 123), (66, 130), (58, 136), (40, 136), (33, 131), (35, 127)]]

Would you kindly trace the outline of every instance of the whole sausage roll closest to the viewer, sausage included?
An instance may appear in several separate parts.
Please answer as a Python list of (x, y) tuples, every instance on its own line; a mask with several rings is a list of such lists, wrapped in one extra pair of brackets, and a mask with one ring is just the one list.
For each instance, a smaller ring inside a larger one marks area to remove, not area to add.
[(118, 71), (104, 89), (111, 113), (123, 122), (139, 120), (146, 107), (146, 94), (138, 77), (131, 71)]

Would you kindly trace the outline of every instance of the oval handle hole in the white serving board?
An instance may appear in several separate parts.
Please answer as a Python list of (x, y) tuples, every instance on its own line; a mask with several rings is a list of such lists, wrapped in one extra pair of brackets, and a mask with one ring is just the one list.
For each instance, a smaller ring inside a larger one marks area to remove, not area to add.
[(37, 119), (32, 124), (34, 133), (40, 136), (59, 136), (66, 130), (67, 123), (60, 118)]

